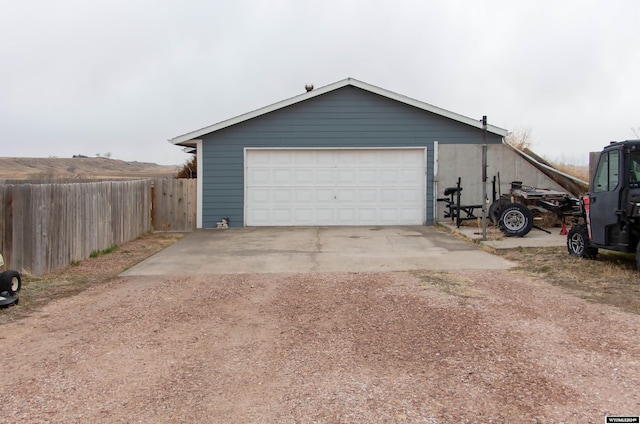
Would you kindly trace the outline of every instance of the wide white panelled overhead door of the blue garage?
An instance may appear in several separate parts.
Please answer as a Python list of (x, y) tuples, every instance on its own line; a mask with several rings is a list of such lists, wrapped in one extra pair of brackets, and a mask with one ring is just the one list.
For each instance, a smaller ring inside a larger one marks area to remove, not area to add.
[(421, 225), (425, 149), (246, 149), (247, 226)]

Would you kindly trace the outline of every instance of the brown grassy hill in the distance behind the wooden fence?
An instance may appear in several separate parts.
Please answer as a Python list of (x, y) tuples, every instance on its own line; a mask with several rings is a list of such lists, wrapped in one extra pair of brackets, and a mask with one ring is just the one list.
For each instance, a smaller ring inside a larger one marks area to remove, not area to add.
[(104, 180), (172, 177), (179, 168), (179, 165), (125, 162), (105, 157), (68, 159), (0, 157), (0, 180)]

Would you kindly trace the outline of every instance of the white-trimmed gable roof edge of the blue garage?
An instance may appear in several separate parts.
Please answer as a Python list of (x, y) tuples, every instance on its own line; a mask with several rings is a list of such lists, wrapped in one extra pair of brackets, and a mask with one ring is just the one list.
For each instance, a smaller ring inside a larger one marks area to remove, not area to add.
[[(217, 124), (209, 125), (208, 127), (204, 127), (199, 130), (195, 130), (183, 135), (179, 135), (177, 137), (169, 139), (169, 142), (176, 145), (182, 145), (182, 146), (194, 146), (195, 143), (193, 141), (205, 134), (209, 134), (209, 133), (221, 130), (223, 128), (230, 127), (232, 125), (239, 124), (244, 121), (248, 121), (249, 119), (253, 119), (258, 116), (276, 111), (278, 109), (282, 109), (287, 106), (291, 106), (293, 104), (312, 99), (316, 96), (321, 96), (323, 94), (329, 93), (331, 91), (334, 91), (346, 86), (360, 88), (370, 93), (378, 94), (380, 96), (389, 98), (391, 100), (395, 100), (395, 101), (407, 104), (409, 106), (413, 106), (418, 109), (422, 109), (427, 112), (431, 112), (436, 115), (440, 115), (445, 118), (453, 119), (454, 121), (458, 121), (463, 124), (482, 129), (482, 122), (480, 120), (469, 118), (467, 116), (463, 116), (463, 115), (439, 108), (437, 106), (433, 106), (429, 103), (424, 103), (419, 100), (412, 99), (411, 97), (403, 96), (402, 94), (397, 94), (397, 93), (394, 93), (393, 91), (385, 90), (384, 88), (376, 87), (375, 85), (358, 81), (357, 79), (354, 79), (354, 78), (346, 78), (341, 81), (334, 82), (333, 84), (325, 85), (324, 87), (316, 88), (306, 93), (300, 94), (298, 96), (294, 96), (286, 100), (282, 100), (278, 103), (274, 103), (269, 106), (265, 106), (263, 108), (256, 109), (254, 111), (236, 116), (235, 118), (227, 119), (225, 121), (218, 122)], [(508, 133), (507, 130), (493, 126), (493, 125), (487, 125), (487, 131), (502, 137), (506, 137)]]

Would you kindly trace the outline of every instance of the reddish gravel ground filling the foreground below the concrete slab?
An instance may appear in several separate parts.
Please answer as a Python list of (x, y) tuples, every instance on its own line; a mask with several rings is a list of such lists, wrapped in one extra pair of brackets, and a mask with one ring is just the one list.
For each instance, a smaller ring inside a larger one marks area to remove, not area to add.
[(2, 312), (0, 422), (640, 414), (640, 316), (517, 271), (109, 278), (35, 305)]

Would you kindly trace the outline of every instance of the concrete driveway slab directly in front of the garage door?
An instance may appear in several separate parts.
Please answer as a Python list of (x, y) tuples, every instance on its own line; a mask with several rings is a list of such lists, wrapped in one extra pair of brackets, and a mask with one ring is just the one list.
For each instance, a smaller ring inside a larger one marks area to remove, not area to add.
[(434, 227), (250, 227), (197, 230), (121, 275), (380, 272), (512, 266), (511, 262)]

